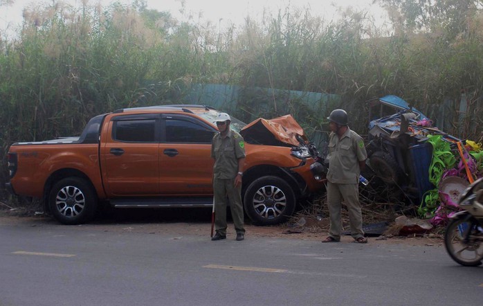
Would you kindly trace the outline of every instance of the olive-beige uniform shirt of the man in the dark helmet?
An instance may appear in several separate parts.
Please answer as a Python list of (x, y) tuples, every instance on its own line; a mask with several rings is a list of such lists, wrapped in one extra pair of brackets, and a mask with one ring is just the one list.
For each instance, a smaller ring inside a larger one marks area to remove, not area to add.
[(349, 128), (340, 139), (331, 132), (327, 159), (327, 180), (331, 183), (358, 183), (361, 174), (358, 162), (367, 159), (363, 138)]

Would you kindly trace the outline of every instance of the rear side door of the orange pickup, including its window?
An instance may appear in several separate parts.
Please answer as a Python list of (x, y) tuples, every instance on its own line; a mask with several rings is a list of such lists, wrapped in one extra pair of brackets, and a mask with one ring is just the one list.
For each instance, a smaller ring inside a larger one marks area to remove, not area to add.
[(108, 195), (159, 194), (159, 117), (128, 114), (109, 121), (101, 147), (102, 177)]

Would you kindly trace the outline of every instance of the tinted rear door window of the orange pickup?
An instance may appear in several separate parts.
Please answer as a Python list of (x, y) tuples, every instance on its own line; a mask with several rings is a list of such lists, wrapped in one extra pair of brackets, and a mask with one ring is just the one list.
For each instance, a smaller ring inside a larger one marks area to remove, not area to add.
[(129, 143), (154, 143), (156, 120), (120, 120), (113, 127), (113, 139)]

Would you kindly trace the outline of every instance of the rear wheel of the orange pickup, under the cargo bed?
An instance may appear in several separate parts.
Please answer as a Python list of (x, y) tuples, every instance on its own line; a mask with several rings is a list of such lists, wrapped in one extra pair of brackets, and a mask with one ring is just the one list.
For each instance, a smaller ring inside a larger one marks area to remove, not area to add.
[(98, 198), (91, 183), (79, 177), (61, 179), (48, 196), (48, 205), (55, 219), (62, 224), (89, 222), (98, 208)]

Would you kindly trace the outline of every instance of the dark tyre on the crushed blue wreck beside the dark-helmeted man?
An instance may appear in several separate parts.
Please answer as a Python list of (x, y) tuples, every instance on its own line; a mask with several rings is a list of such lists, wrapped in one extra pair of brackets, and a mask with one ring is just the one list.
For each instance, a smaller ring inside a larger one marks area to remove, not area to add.
[(403, 177), (403, 170), (390, 154), (377, 151), (369, 158), (370, 168), (384, 183), (388, 185), (399, 184)]

